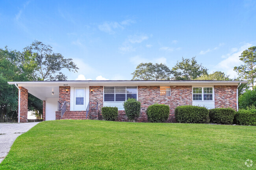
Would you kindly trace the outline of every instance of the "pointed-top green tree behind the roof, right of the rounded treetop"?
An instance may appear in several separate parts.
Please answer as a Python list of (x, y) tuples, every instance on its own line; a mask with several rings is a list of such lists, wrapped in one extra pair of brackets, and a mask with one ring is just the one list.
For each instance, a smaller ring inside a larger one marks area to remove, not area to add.
[(173, 79), (174, 80), (193, 80), (198, 78), (203, 74), (208, 74), (206, 68), (202, 64), (198, 64), (195, 57), (191, 59), (184, 59), (182, 61), (177, 61), (176, 65), (173, 67)]

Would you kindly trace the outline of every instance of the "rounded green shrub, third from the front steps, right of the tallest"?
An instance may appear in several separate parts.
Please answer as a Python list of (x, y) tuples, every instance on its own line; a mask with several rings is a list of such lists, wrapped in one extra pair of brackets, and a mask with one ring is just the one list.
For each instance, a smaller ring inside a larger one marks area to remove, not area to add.
[(147, 115), (149, 122), (165, 122), (169, 118), (170, 108), (168, 105), (154, 104), (148, 106)]

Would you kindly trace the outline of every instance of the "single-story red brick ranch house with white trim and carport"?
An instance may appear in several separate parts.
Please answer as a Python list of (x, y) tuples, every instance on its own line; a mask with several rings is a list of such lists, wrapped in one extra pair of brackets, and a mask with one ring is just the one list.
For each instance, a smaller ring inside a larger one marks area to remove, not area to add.
[(20, 81), (8, 82), (19, 88), (19, 122), (27, 122), (28, 93), (43, 100), (43, 120), (102, 119), (101, 108), (118, 107), (118, 120), (127, 121), (123, 102), (135, 98), (141, 102), (137, 121), (147, 122), (149, 105), (169, 105), (167, 122), (175, 122), (174, 109), (181, 105), (208, 109), (238, 109), (238, 86), (247, 81)]

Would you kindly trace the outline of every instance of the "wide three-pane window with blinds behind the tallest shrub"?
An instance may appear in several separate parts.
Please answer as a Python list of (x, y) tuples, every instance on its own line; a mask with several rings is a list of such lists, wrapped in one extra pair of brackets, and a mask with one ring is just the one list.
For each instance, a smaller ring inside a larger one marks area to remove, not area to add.
[(137, 99), (137, 86), (104, 86), (104, 101)]

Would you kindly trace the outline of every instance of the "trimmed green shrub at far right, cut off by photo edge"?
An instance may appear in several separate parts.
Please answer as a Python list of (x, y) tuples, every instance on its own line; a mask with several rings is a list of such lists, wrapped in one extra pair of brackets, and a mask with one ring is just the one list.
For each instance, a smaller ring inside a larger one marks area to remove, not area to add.
[(254, 125), (256, 126), (256, 109), (240, 109), (236, 112), (234, 123), (237, 125)]

